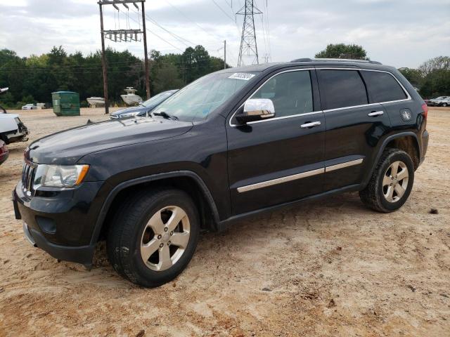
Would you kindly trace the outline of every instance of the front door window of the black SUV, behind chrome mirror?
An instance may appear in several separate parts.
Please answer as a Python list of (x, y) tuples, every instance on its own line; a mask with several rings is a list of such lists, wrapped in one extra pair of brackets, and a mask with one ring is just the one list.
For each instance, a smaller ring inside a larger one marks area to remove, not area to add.
[(275, 117), (312, 112), (312, 88), (309, 71), (283, 72), (267, 81), (252, 98), (270, 98)]

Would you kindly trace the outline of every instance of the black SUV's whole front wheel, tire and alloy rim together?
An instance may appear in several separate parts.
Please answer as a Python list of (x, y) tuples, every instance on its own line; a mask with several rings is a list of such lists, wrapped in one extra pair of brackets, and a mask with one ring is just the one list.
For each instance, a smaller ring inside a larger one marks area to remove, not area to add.
[(191, 260), (200, 220), (191, 197), (181, 190), (142, 191), (127, 199), (108, 231), (114, 269), (146, 287), (165, 284)]

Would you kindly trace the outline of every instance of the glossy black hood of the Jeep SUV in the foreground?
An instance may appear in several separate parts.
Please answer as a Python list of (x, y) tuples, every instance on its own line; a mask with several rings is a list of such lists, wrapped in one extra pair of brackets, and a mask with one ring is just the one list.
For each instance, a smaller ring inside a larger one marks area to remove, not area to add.
[(159, 117), (113, 119), (41, 138), (30, 145), (26, 155), (37, 164), (70, 165), (92, 152), (176, 137), (192, 126), (191, 122)]

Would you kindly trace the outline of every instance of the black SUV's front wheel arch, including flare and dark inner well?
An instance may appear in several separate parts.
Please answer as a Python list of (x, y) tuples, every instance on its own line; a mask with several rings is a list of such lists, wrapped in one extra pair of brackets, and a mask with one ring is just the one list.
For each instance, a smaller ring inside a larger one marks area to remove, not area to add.
[(202, 227), (217, 230), (219, 212), (205, 182), (193, 171), (174, 171), (127, 180), (115, 186), (106, 197), (98, 215), (91, 244), (96, 244), (101, 235), (108, 230), (108, 218), (114, 216), (117, 209), (115, 206), (137, 190), (154, 187), (175, 187), (187, 192), (198, 206)]

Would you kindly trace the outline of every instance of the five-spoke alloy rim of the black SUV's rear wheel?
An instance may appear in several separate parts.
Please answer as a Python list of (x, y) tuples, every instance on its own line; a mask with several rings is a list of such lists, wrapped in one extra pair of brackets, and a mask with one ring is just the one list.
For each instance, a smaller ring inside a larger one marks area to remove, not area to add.
[(389, 202), (397, 202), (408, 188), (409, 172), (403, 161), (394, 161), (383, 177), (383, 195)]

